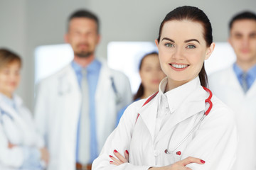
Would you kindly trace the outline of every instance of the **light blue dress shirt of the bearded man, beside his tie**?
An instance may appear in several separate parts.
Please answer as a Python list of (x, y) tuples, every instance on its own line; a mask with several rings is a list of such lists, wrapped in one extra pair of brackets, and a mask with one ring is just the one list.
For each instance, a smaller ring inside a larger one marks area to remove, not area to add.
[[(75, 70), (75, 74), (78, 78), (78, 84), (81, 86), (82, 81), (82, 67), (71, 62), (71, 66)], [(89, 90), (89, 114), (90, 114), (90, 162), (92, 163), (94, 159), (98, 157), (97, 150), (97, 136), (96, 136), (96, 118), (95, 118), (95, 92), (97, 87), (97, 81), (100, 75), (101, 63), (98, 60), (92, 61), (87, 67), (87, 84)], [(79, 134), (80, 134), (80, 118), (78, 120), (78, 132), (77, 132), (77, 145), (76, 145), (76, 161), (78, 162), (78, 150), (79, 150)]]

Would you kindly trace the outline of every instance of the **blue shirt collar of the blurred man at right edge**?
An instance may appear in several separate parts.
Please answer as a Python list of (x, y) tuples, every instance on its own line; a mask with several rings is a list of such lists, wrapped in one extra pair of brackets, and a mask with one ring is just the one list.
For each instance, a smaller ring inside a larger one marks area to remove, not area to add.
[[(238, 77), (238, 81), (240, 85), (242, 86), (242, 73), (243, 73), (242, 69), (236, 63), (233, 65), (233, 69), (234, 69), (235, 75)], [(247, 72), (246, 81), (247, 81), (248, 89), (250, 89), (255, 79), (256, 79), (256, 65), (250, 68)]]

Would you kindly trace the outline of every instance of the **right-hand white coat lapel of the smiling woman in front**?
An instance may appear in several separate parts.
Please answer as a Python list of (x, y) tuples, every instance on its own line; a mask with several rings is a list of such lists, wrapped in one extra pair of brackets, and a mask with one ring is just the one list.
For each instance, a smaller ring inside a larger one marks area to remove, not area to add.
[(164, 124), (159, 135), (156, 137), (155, 142), (158, 142), (162, 137), (164, 137), (164, 135), (166, 135), (167, 132), (170, 132), (175, 128), (178, 123), (181, 123), (183, 120), (204, 111), (206, 107), (206, 98), (208, 98), (208, 94), (201, 86), (193, 91), (193, 93), (190, 94), (183, 103), (181, 103), (181, 106), (172, 113), (173, 115), (171, 115), (169, 120)]

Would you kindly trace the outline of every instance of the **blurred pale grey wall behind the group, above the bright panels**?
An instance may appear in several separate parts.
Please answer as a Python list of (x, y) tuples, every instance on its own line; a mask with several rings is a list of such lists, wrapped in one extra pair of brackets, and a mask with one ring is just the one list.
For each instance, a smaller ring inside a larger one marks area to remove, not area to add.
[(225, 42), (233, 14), (256, 12), (256, 0), (0, 0), (0, 47), (23, 58), (22, 81), (17, 93), (33, 111), (34, 50), (39, 45), (64, 42), (67, 18), (87, 8), (100, 18), (102, 41), (97, 56), (107, 57), (111, 41), (154, 41), (166, 13), (177, 6), (203, 9), (213, 25), (213, 40)]

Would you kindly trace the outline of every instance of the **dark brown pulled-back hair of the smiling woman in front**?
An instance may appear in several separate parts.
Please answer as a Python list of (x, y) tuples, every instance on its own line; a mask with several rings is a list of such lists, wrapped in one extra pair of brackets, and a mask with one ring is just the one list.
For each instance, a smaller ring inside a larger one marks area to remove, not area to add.
[[(207, 47), (210, 47), (211, 43), (213, 42), (213, 29), (210, 24), (210, 20), (206, 16), (206, 13), (204, 13), (201, 9), (194, 6), (181, 6), (169, 12), (164, 18), (164, 21), (161, 22), (159, 28), (159, 37), (157, 38), (158, 42), (160, 42), (161, 30), (164, 26), (164, 23), (173, 20), (188, 20), (201, 23), (204, 30), (203, 38), (206, 40)], [(206, 74), (206, 70), (204, 68), (204, 63), (201, 71), (198, 74), (198, 77), (200, 79), (201, 86), (208, 86), (208, 77)]]

